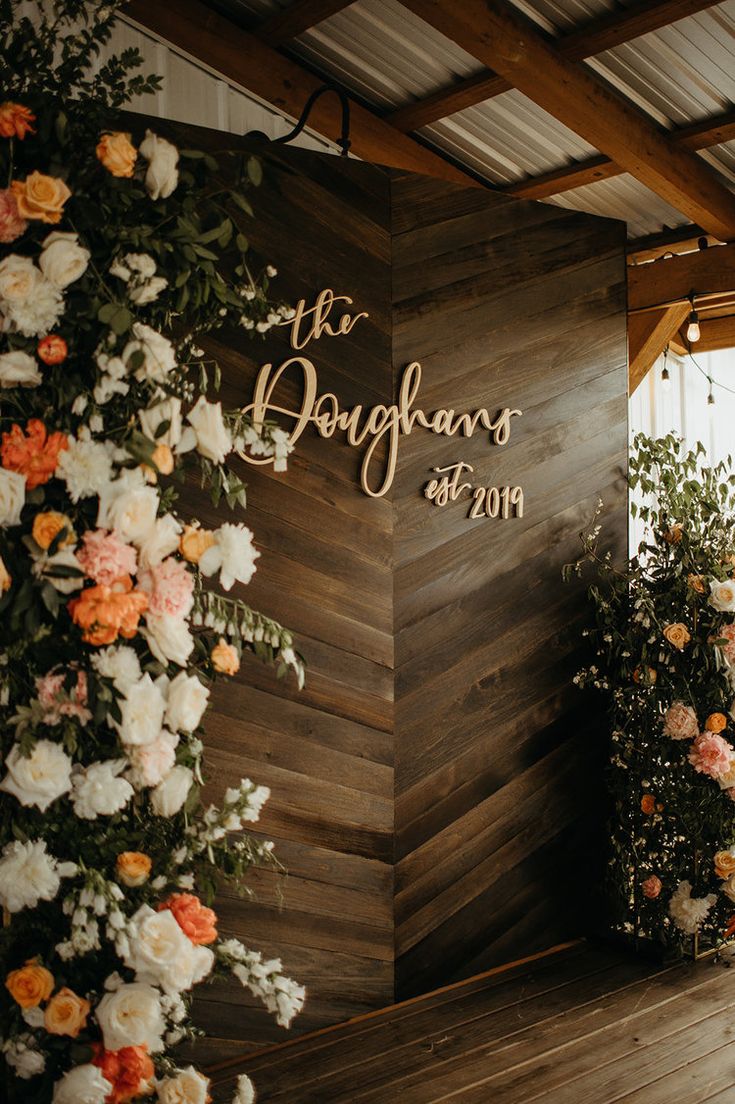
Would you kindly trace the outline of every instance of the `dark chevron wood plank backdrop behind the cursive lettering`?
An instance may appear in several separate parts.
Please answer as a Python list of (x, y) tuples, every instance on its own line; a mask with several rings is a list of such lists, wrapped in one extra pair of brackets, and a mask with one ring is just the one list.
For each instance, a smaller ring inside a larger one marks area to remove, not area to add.
[[(225, 935), (306, 983), (301, 1032), (584, 927), (605, 734), (572, 686), (586, 608), (561, 571), (598, 496), (611, 546), (625, 544), (625, 238), (620, 223), (556, 206), (256, 148), (266, 183), (249, 237), (278, 267), (275, 295), (330, 287), (370, 314), (309, 347), (320, 391), (390, 405), (418, 360), (426, 411), (523, 411), (502, 448), (415, 429), (385, 498), (361, 491), (362, 450), (340, 433), (309, 427), (284, 475), (242, 465), (262, 554), (241, 593), (295, 630), (308, 673), (299, 692), (248, 660), (214, 697), (213, 797), (242, 775), (270, 786), (259, 827), (288, 868), (217, 907)], [(284, 330), (211, 348), (227, 405), (289, 355)], [(430, 469), (459, 459), (478, 484), (522, 485), (524, 517), (427, 501)], [(188, 505), (223, 520), (203, 491)], [(200, 1060), (286, 1038), (234, 984), (199, 1007), (213, 1036)]]

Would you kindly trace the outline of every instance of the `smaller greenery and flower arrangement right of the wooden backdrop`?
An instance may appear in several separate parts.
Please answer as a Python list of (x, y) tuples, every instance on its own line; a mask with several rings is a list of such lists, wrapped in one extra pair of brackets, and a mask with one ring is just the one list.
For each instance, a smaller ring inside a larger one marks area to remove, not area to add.
[(735, 475), (639, 435), (629, 484), (627, 570), (583, 534), (596, 661), (576, 681), (609, 701), (615, 925), (675, 954), (735, 931)]

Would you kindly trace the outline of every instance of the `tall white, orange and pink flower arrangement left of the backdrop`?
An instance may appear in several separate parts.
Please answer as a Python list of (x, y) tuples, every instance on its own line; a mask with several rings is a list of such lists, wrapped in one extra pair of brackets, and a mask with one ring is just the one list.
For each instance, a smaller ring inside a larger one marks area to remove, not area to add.
[(0, 8), (1, 1049), (26, 1104), (204, 1104), (170, 1053), (196, 1033), (192, 987), (234, 975), (284, 1026), (303, 1002), (209, 906), (271, 861), (242, 834), (266, 788), (201, 803), (210, 683), (245, 649), (299, 682), (302, 665), (286, 629), (204, 585), (251, 580), (251, 531), (177, 501), (193, 470), (244, 505), (233, 449), (285, 466), (280, 431), (207, 397), (199, 341), (288, 311), (239, 225), (259, 164), (226, 184), (211, 157), (111, 124), (158, 83), (130, 75), (136, 51), (95, 73), (115, 9)]

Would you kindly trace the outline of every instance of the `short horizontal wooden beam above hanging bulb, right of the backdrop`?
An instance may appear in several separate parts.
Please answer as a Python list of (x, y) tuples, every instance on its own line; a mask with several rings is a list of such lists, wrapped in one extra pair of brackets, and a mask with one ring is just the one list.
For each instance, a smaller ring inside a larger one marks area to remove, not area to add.
[(735, 293), (735, 245), (712, 245), (696, 253), (628, 265), (628, 310), (654, 310), (695, 296)]

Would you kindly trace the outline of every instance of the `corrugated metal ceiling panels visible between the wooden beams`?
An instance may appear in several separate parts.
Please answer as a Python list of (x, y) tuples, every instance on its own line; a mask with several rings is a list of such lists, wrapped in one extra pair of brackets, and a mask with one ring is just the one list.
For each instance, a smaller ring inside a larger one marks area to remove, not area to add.
[[(212, 6), (253, 25), (287, 7), (288, 0), (212, 0)], [(620, 4), (615, 0), (516, 0), (516, 7), (557, 33)], [(476, 59), (397, 0), (356, 0), (289, 43), (289, 49), (381, 112), (482, 70)], [(588, 64), (663, 127), (717, 115), (735, 103), (735, 0), (598, 54)], [(425, 127), (420, 136), (500, 185), (596, 153), (516, 91)], [(713, 147), (702, 156), (735, 182), (735, 142)], [(686, 222), (629, 176), (587, 184), (548, 202), (625, 219), (631, 236)]]

